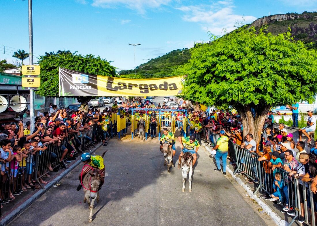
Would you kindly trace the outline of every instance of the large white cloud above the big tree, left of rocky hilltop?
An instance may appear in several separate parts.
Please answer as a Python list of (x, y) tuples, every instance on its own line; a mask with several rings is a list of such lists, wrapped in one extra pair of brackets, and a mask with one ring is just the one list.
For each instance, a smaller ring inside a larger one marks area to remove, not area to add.
[(236, 15), (233, 13), (231, 0), (218, 1), (211, 5), (192, 5), (177, 8), (184, 12), (183, 20), (199, 23), (202, 29), (211, 31), (212, 34), (222, 34), (223, 28), (230, 32), (236, 21), (243, 21), (246, 24), (255, 21), (257, 18), (249, 15)]

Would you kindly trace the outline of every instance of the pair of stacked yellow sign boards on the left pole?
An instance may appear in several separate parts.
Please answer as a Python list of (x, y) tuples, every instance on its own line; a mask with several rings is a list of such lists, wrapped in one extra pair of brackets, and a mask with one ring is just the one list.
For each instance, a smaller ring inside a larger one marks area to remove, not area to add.
[(22, 87), (27, 89), (38, 88), (41, 85), (40, 65), (23, 65), (22, 66)]

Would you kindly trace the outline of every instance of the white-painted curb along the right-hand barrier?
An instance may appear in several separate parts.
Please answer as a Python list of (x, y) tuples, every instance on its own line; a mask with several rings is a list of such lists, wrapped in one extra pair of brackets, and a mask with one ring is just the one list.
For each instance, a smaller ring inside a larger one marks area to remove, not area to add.
[[(203, 146), (208, 152), (211, 151), (211, 149), (207, 146)], [(238, 178), (236, 175), (233, 175), (232, 170), (227, 166), (226, 171), (230, 173), (233, 179), (236, 180), (236, 182), (244, 188), (244, 190), (247, 192), (250, 199), (253, 199), (257, 202), (258, 205), (261, 206), (261, 208), (268, 214), (268, 216), (271, 217), (271, 219), (275, 222), (278, 226), (287, 226), (287, 221), (283, 220), (280, 216), (278, 216), (268, 205), (266, 205), (257, 195), (253, 194), (250, 187), (247, 186), (240, 178)]]

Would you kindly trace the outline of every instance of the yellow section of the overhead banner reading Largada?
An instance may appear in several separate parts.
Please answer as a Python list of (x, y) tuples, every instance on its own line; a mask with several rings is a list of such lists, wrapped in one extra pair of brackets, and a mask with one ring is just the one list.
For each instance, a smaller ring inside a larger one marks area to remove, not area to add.
[(128, 79), (97, 76), (97, 96), (176, 96), (182, 92), (182, 76)]

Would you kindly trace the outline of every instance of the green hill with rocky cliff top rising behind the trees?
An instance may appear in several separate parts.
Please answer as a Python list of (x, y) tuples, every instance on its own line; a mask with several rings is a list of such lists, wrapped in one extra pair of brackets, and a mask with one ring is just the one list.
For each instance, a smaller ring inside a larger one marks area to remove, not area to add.
[[(286, 33), (291, 28), (291, 34), (294, 40), (301, 40), (308, 43), (317, 42), (317, 12), (286, 13), (270, 15), (257, 19), (249, 27), (254, 26), (256, 30), (266, 27), (272, 34)], [(309, 48), (317, 48), (317, 45)], [(151, 59), (146, 65), (147, 78), (172, 76), (180, 65), (188, 62), (191, 57), (190, 49), (177, 49), (161, 57)], [(145, 78), (145, 64), (136, 67), (137, 76), (135, 78)], [(134, 77), (134, 70), (122, 70), (120, 76), (129, 75)]]

